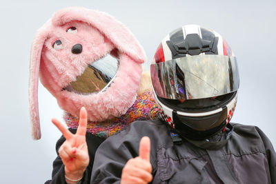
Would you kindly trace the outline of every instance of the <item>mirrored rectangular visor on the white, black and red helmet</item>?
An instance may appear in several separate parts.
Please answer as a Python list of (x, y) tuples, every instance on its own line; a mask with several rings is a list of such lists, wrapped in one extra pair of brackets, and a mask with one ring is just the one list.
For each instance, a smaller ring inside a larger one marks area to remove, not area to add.
[(152, 64), (150, 72), (157, 96), (165, 99), (204, 99), (239, 88), (235, 57), (186, 56)]

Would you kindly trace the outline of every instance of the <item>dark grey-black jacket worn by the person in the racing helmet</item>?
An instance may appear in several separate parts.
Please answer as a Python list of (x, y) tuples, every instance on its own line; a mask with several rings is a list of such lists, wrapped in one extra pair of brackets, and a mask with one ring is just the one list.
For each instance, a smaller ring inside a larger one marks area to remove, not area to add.
[(126, 162), (139, 154), (141, 137), (149, 136), (152, 183), (275, 184), (276, 154), (266, 135), (255, 126), (231, 125), (201, 144), (175, 139), (159, 120), (135, 121), (99, 146), (91, 183), (119, 183)]

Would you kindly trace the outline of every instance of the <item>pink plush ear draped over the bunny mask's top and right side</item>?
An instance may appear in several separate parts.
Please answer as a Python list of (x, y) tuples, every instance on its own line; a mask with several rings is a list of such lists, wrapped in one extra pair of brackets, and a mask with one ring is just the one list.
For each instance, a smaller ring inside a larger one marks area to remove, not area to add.
[[(70, 13), (68, 13), (70, 12)], [(89, 16), (88, 16), (89, 14)], [(134, 35), (121, 22), (111, 17), (106, 12), (98, 10), (89, 10), (86, 8), (65, 8), (59, 10), (52, 18), (54, 25), (63, 25), (70, 21), (83, 21), (90, 23), (93, 27), (102, 32), (116, 47), (121, 51), (129, 54), (130, 57), (139, 63), (146, 61), (144, 50), (130, 43), (137, 43)], [(119, 34), (118, 34), (119, 33)]]

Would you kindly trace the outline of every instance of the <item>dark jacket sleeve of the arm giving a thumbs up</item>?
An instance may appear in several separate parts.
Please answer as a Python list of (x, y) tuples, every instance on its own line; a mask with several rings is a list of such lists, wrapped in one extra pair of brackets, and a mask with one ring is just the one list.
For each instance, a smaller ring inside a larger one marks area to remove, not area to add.
[(104, 141), (96, 152), (91, 183), (120, 183), (121, 172), (129, 159), (139, 155), (139, 142), (150, 137), (150, 162), (155, 172), (157, 132), (147, 121), (135, 121)]

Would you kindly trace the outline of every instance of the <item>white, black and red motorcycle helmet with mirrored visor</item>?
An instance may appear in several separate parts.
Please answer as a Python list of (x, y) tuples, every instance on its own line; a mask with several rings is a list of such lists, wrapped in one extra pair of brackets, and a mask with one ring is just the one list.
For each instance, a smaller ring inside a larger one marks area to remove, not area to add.
[(150, 72), (160, 114), (181, 136), (208, 139), (232, 118), (239, 71), (217, 32), (199, 25), (172, 31), (157, 48)]

